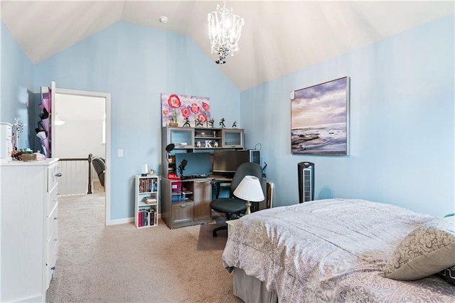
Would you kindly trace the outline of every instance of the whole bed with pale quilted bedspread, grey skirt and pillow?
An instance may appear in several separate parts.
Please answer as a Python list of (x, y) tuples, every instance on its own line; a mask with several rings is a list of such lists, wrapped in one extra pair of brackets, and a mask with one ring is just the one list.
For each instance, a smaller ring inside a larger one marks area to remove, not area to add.
[(243, 216), (223, 265), (245, 302), (455, 302), (455, 217), (327, 199)]

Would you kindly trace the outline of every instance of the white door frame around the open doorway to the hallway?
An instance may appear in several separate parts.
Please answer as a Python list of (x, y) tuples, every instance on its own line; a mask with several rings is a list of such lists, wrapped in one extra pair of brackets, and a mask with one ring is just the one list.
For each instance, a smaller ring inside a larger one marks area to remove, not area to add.
[[(104, 97), (106, 102), (106, 173), (105, 173), (105, 224), (111, 225), (111, 94), (108, 92), (87, 92), (84, 90), (67, 90), (64, 88), (56, 88), (55, 83), (52, 83), (53, 92), (61, 95), (77, 95), (85, 97)], [(55, 99), (54, 99), (55, 100)], [(55, 102), (52, 102), (51, 112), (55, 112)], [(54, 115), (51, 115), (53, 117)], [(55, 150), (55, 142), (52, 143), (51, 151)]]

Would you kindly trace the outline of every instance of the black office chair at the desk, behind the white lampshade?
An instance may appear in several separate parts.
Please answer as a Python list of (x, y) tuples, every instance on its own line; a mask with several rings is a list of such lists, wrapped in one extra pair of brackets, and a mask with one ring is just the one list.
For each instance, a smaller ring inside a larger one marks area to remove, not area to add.
[[(240, 216), (240, 213), (245, 213), (247, 210), (247, 206), (245, 204), (246, 201), (235, 198), (234, 196), (235, 188), (237, 188), (245, 176), (257, 176), (259, 182), (262, 183), (261, 166), (253, 162), (245, 162), (243, 164), (240, 164), (240, 166), (237, 168), (237, 171), (235, 171), (234, 177), (230, 183), (229, 198), (217, 198), (210, 203), (210, 208), (212, 208), (213, 211), (218, 211), (219, 213), (226, 214), (226, 220), (233, 220)], [(227, 224), (213, 229), (213, 237), (217, 236), (216, 233), (218, 230), (227, 229)]]

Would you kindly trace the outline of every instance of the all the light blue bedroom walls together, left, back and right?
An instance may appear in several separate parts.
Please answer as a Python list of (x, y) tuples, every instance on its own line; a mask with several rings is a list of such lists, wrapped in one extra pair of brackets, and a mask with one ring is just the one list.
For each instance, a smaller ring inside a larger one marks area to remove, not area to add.
[[(442, 216), (455, 200), (454, 23), (454, 15), (441, 18), (241, 94), (185, 36), (115, 23), (33, 68), (1, 23), (1, 122), (34, 121), (26, 92), (50, 81), (111, 93), (112, 220), (133, 216), (131, 176), (141, 164), (159, 168), (161, 92), (210, 97), (215, 119), (236, 119), (248, 148), (262, 144), (275, 206), (297, 203), (296, 164), (313, 161), (316, 198), (367, 198)], [(345, 75), (350, 155), (291, 154), (289, 92)]]

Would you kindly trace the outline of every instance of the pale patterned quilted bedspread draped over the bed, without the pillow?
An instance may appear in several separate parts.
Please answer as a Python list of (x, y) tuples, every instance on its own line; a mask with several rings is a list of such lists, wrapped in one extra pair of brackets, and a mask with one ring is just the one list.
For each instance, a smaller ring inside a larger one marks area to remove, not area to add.
[(402, 238), (435, 217), (364, 200), (328, 199), (240, 218), (223, 265), (277, 292), (283, 302), (455, 302), (440, 277), (382, 277)]

